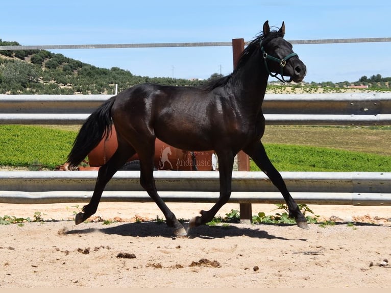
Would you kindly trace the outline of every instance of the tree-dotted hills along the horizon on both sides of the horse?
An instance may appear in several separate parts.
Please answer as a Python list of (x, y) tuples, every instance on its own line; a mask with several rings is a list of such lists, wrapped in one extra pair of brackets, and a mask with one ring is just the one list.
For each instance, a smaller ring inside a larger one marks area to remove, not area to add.
[[(0, 39), (1, 45), (19, 45)], [(218, 78), (212, 74), (208, 80)], [(207, 81), (208, 81), (207, 80)], [(268, 93), (320, 93), (346, 91), (389, 90), (389, 80), (380, 75), (362, 77), (357, 82), (300, 83), (284, 86), (272, 82)], [(118, 67), (100, 68), (91, 64), (54, 54), (46, 50), (0, 51), (0, 94), (114, 94), (133, 85), (152, 82), (165, 85), (199, 86), (206, 81), (168, 77), (135, 76)], [(351, 88), (366, 85), (366, 89)]]

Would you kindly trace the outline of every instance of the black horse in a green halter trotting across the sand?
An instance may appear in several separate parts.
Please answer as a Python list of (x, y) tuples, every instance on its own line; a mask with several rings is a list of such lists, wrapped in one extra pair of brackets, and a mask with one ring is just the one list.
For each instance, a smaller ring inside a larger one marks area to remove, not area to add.
[[(305, 217), (290, 196), (285, 183), (268, 159), (261, 143), (265, 128), (262, 102), (268, 76), (301, 82), (306, 66), (283, 39), (285, 25), (271, 31), (266, 21), (263, 33), (251, 41), (231, 75), (202, 87), (140, 84), (111, 97), (85, 121), (68, 155), (69, 166), (77, 166), (115, 126), (118, 148), (100, 167), (92, 198), (76, 215), (76, 225), (94, 214), (102, 192), (127, 159), (138, 154), (140, 184), (163, 212), (176, 235), (187, 232), (157, 193), (154, 181), (155, 138), (175, 148), (214, 150), (218, 158), (220, 196), (209, 210), (191, 219), (190, 227), (210, 222), (231, 195), (235, 155), (243, 150), (270, 178), (284, 197), (289, 216), (308, 229)], [(275, 72), (273, 74), (272, 72)]]

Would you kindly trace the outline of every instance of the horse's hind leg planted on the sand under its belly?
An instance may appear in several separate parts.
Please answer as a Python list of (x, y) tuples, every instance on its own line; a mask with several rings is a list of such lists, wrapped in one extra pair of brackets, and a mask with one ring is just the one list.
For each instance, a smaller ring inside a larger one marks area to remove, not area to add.
[(142, 148), (137, 152), (140, 159), (140, 184), (148, 192), (149, 196), (155, 201), (157, 206), (163, 212), (167, 226), (174, 228), (176, 236), (186, 236), (186, 230), (179, 223), (174, 213), (167, 207), (164, 201), (160, 198), (154, 180), (154, 156), (155, 156), (155, 138), (147, 144), (143, 144)]

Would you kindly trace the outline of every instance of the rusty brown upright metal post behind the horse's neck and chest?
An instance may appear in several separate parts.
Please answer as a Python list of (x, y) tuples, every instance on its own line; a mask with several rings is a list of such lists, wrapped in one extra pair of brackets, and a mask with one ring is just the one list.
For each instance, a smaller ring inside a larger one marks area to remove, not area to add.
[[(245, 50), (244, 39), (232, 39), (232, 54), (233, 54), (233, 67), (237, 66), (240, 55)], [(250, 158), (249, 156), (240, 151), (237, 154), (237, 168), (238, 171), (250, 171)], [(251, 224), (252, 222), (252, 208), (251, 204), (239, 204), (240, 208), (240, 222), (243, 224)]]

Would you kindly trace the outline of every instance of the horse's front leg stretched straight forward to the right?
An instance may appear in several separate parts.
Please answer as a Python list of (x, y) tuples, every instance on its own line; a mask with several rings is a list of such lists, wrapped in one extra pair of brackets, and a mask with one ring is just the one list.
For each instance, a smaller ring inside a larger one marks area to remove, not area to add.
[(273, 166), (272, 162), (267, 157), (262, 142), (257, 140), (243, 149), (243, 151), (245, 151), (245, 153), (253, 159), (257, 166), (267, 175), (268, 178), (270, 178), (278, 190), (280, 190), (286, 204), (288, 205), (289, 217), (295, 218), (296, 223), (300, 228), (308, 229), (306, 218), (300, 211), (300, 208), (296, 204), (295, 200), (291, 197), (288, 189), (286, 188), (285, 182), (281, 177), (281, 174), (277, 171), (277, 169)]

